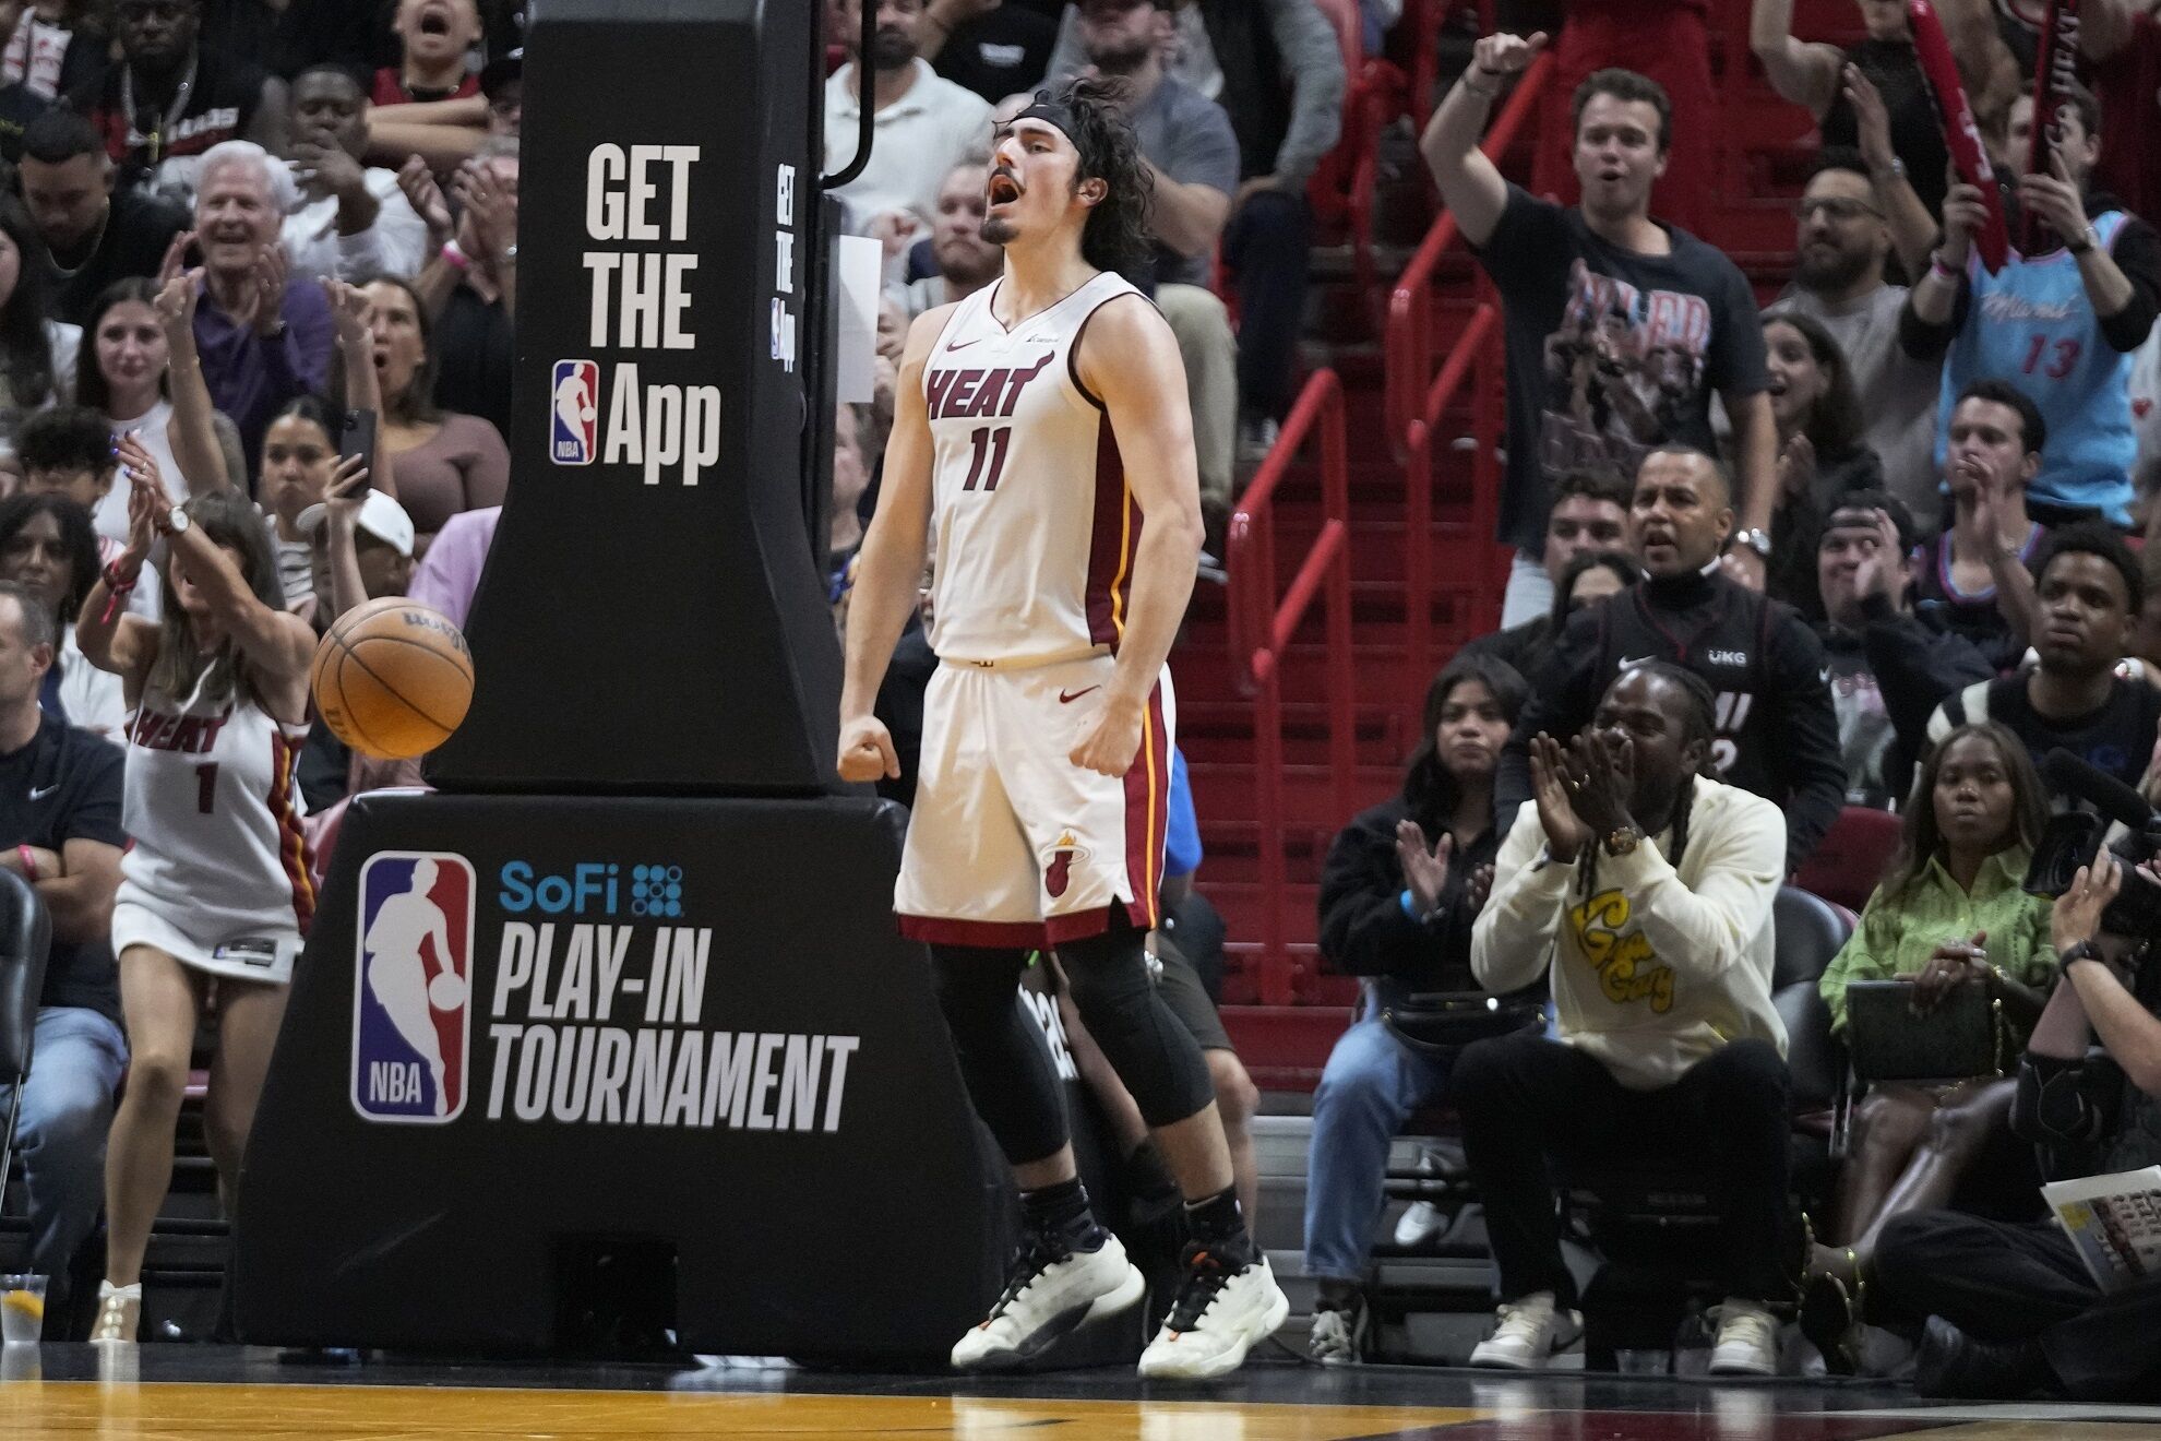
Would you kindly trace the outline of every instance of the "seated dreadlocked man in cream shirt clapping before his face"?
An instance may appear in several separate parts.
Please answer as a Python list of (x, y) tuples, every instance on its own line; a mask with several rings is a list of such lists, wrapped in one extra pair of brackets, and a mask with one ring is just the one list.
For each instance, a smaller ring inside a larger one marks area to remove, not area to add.
[(1582, 1331), (1547, 1158), (1670, 1156), (1716, 1175), (1727, 1298), (1712, 1372), (1776, 1372), (1766, 1303), (1791, 1294), (1785, 1026), (1770, 1000), (1785, 817), (1705, 776), (1714, 711), (1701, 676), (1645, 661), (1573, 741), (1532, 739), (1534, 804), (1493, 862), (1472, 972), (1515, 992), (1552, 966), (1560, 1039), (1530, 1031), (1457, 1059), (1502, 1294), (1472, 1365), (1532, 1370)]

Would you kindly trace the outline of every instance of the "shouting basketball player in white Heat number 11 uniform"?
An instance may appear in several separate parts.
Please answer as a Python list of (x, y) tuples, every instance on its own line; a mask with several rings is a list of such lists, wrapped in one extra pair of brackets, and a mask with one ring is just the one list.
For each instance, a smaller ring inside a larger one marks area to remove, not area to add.
[(1238, 1212), (1208, 1065), (1143, 959), (1171, 765), (1163, 661), (1202, 523), (1178, 344), (1117, 277), (1147, 253), (1147, 173), (1113, 102), (1083, 80), (1001, 127), (983, 235), (1005, 272), (908, 333), (856, 573), (841, 776), (899, 776), (871, 702), (936, 527), (940, 668), (895, 910), (931, 946), (1026, 1236), (953, 1365), (1020, 1365), (1143, 1292), (1089, 1212), (1050, 1056), (1016, 1005), (1026, 953), (1055, 946), (1186, 1197), (1184, 1277), (1141, 1374), (1221, 1376), (1288, 1303)]

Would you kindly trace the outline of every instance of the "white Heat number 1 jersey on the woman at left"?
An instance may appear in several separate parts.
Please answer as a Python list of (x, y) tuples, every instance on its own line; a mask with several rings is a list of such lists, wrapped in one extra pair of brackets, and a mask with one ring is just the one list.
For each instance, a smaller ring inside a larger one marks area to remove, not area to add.
[(145, 693), (127, 726), (119, 899), (205, 951), (303, 935), (316, 910), (294, 784), (305, 739), (246, 693)]

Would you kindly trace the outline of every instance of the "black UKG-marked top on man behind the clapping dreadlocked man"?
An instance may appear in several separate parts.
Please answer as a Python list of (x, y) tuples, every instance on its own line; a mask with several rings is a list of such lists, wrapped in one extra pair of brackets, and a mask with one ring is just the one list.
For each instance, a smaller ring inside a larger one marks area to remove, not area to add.
[(1794, 607), (1718, 573), (1642, 581), (1569, 616), (1500, 756), (1500, 830), (1530, 799), (1530, 739), (1588, 726), (1623, 659), (1673, 661), (1712, 685), (1718, 741), (1707, 776), (1779, 804), (1787, 871), (1809, 860), (1845, 804), (1824, 646)]

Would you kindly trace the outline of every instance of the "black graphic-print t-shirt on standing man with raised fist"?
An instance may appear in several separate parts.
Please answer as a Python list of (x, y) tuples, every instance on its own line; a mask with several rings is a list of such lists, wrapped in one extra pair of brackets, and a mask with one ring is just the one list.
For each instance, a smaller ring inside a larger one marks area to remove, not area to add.
[(1770, 389), (1755, 292), (1722, 253), (1662, 227), (1670, 255), (1621, 251), (1584, 212), (1508, 186), (1478, 251), (1504, 300), (1508, 484), (1500, 538), (1536, 555), (1552, 477), (1584, 471), (1634, 488), (1657, 445), (1716, 454), (1712, 393)]

